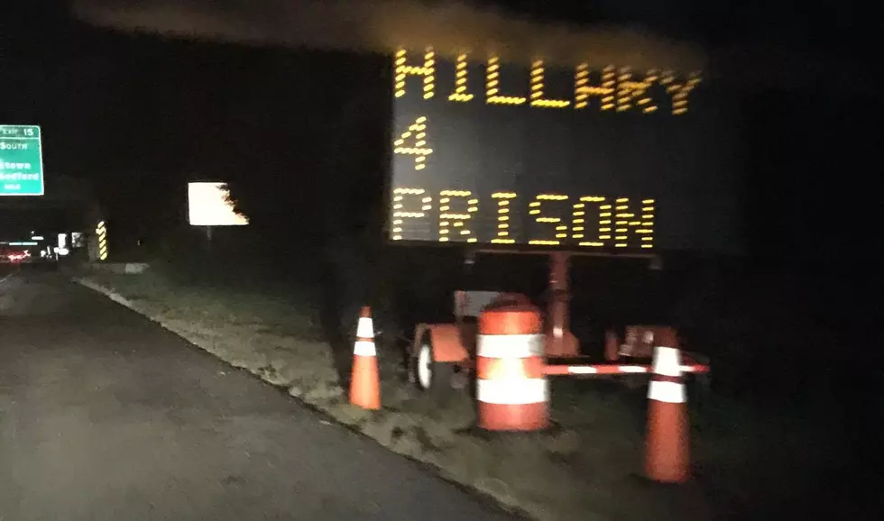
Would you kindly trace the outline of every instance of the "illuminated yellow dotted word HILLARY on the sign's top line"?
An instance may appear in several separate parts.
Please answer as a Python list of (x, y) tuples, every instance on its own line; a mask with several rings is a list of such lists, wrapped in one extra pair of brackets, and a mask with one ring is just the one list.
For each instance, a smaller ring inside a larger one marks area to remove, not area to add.
[[(467, 63), (469, 55), (461, 54), (456, 59), (455, 85), (447, 96), (449, 101), (466, 103), (474, 99), (470, 93)], [(592, 85), (589, 65), (578, 64), (574, 69), (574, 96), (572, 99), (547, 98), (546, 69), (541, 59), (531, 63), (528, 96), (507, 95), (501, 87), (501, 61), (492, 56), (485, 62), (484, 101), (489, 105), (525, 105), (540, 108), (585, 109), (590, 100), (598, 98), (603, 111), (623, 112), (630, 109), (640, 110), (643, 114), (656, 112), (658, 105), (650, 97), (649, 89), (654, 84), (665, 87), (672, 98), (672, 114), (687, 112), (687, 96), (700, 82), (698, 74), (678, 81), (671, 71), (649, 70), (644, 74), (635, 74), (628, 67), (608, 66), (602, 70), (601, 81)], [(410, 76), (423, 78), (422, 92), (424, 99), (436, 96), (436, 54), (432, 49), (426, 50), (422, 60), (410, 62), (406, 50), (396, 52), (393, 64), (395, 77), (395, 95), (405, 96), (406, 79)]]

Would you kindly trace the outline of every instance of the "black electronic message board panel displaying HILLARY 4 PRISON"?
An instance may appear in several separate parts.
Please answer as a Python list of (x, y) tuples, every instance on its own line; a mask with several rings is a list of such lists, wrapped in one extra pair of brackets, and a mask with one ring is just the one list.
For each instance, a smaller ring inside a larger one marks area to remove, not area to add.
[(732, 125), (698, 73), (393, 57), (389, 239), (740, 250)]

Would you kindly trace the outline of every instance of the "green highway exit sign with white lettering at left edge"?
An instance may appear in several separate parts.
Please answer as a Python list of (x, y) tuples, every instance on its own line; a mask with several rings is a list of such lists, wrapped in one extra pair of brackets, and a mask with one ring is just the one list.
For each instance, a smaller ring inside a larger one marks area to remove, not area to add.
[(0, 124), (0, 196), (42, 196), (40, 126)]

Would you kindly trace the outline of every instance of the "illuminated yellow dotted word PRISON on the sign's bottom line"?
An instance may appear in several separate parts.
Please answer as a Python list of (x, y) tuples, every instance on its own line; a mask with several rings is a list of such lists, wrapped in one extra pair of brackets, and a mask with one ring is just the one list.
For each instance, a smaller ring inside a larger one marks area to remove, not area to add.
[[(539, 194), (521, 206), (517, 200), (519, 196), (513, 192), (494, 192), (490, 201), (493, 215), (483, 215), (480, 198), (469, 190), (442, 190), (434, 200), (423, 188), (395, 188), (391, 237), (394, 241), (409, 240), (410, 224), (426, 226), (435, 222), (439, 242), (654, 247), (654, 199), (638, 199), (640, 205), (631, 205), (629, 197)], [(513, 236), (511, 225), (526, 215), (529, 224), (539, 224), (535, 228), (541, 229), (544, 236), (524, 240)], [(494, 223), (488, 237), (476, 236), (480, 219)]]

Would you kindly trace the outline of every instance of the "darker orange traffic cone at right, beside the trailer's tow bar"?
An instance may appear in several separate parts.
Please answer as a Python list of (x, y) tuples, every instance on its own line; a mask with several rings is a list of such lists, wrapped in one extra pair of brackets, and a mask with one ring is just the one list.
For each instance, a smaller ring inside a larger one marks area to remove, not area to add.
[(690, 478), (690, 425), (681, 354), (675, 347), (666, 347), (676, 345), (675, 340), (671, 330), (658, 335), (648, 388), (645, 474), (661, 483), (683, 483)]

